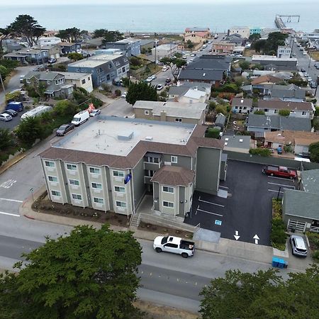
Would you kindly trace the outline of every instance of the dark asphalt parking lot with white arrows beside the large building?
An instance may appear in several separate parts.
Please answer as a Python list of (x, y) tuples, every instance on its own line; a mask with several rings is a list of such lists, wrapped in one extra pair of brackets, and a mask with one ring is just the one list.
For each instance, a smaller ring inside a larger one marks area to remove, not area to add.
[(220, 233), (232, 240), (270, 245), (272, 198), (295, 189), (290, 179), (262, 174), (262, 164), (228, 160), (226, 181), (220, 190), (227, 198), (196, 191), (185, 223)]

